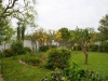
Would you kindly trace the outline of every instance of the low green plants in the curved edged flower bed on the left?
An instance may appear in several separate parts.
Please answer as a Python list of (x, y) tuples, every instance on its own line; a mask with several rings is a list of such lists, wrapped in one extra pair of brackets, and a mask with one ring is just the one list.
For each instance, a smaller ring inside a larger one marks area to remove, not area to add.
[(38, 66), (41, 63), (41, 58), (40, 57), (36, 57), (36, 56), (29, 56), (26, 55), (25, 57), (22, 57), (22, 60), (28, 65), (32, 65), (32, 66)]

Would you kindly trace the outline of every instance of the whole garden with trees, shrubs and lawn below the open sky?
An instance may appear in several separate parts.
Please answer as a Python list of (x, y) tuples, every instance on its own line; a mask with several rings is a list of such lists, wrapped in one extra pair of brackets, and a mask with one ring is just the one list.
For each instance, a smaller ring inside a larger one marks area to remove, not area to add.
[(46, 30), (37, 28), (36, 0), (22, 1), (0, 0), (4, 81), (108, 81), (108, 14), (97, 31), (78, 26)]

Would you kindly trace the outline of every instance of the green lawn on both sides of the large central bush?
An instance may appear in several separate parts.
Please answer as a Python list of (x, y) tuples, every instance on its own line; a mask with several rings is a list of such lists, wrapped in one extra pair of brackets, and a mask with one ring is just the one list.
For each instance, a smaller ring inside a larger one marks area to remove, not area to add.
[[(18, 56), (21, 57), (21, 56)], [(2, 72), (5, 81), (40, 81), (50, 70), (30, 65), (21, 64), (12, 57), (1, 58)], [(84, 54), (82, 52), (72, 51), (71, 60), (84, 69), (94, 70), (108, 76), (108, 53), (89, 53), (89, 65), (83, 65)]]

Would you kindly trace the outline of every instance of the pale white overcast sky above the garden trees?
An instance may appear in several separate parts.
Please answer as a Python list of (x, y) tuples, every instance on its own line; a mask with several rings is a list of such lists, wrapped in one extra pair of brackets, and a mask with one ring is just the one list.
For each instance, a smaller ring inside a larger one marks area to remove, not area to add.
[(108, 0), (37, 0), (38, 25), (44, 29), (98, 28), (108, 13)]

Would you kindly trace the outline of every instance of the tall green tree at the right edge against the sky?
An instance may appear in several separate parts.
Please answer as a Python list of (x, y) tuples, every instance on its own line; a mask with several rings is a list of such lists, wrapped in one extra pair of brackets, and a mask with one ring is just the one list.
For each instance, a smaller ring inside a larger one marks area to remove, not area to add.
[(98, 30), (100, 32), (100, 39), (102, 41), (108, 40), (108, 14), (106, 14), (100, 21), (100, 25), (98, 27)]

